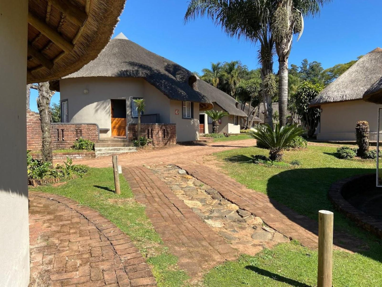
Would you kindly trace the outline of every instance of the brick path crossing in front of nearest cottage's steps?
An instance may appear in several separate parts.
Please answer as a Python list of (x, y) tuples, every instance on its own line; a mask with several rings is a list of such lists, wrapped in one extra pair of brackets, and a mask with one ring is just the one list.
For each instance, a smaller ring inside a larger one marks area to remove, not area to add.
[[(140, 150), (139, 152), (123, 153), (118, 155), (118, 164), (122, 166), (142, 166), (153, 163), (176, 163), (183, 161), (201, 162), (203, 155), (222, 152), (240, 147), (252, 147), (256, 140), (231, 140), (226, 142), (214, 142), (208, 144), (172, 145), (156, 148), (153, 150)], [(55, 161), (56, 162), (56, 161)], [(57, 161), (58, 162), (58, 161)], [(74, 163), (89, 165), (92, 167), (112, 166), (112, 157), (99, 157), (92, 159), (73, 160)]]

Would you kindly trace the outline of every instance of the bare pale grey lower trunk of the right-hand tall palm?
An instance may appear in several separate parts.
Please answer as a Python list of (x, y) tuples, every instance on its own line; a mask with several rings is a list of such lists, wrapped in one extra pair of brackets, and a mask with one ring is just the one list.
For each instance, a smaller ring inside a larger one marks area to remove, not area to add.
[(278, 67), (278, 112), (280, 126), (286, 125), (286, 113), (288, 108), (288, 58), (279, 60)]

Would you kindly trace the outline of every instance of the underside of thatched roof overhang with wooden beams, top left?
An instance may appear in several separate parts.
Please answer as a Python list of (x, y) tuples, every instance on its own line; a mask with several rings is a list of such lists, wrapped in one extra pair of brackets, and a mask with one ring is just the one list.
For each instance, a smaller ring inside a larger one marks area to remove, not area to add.
[(124, 5), (125, 0), (29, 0), (27, 82), (58, 79), (95, 59)]

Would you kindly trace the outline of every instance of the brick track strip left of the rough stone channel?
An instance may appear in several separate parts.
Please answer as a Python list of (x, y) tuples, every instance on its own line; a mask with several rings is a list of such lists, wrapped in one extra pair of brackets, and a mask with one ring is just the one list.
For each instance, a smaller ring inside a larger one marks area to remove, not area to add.
[(236, 258), (235, 249), (225, 243), (151, 170), (123, 168), (136, 200), (146, 205), (146, 214), (168, 246), (178, 256), (178, 265), (196, 277), (223, 261)]

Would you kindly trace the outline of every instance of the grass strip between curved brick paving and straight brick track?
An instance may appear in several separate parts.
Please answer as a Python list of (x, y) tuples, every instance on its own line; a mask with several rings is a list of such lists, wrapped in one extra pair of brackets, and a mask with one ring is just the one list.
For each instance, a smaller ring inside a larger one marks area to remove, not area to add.
[(113, 169), (90, 168), (83, 178), (72, 179), (57, 187), (39, 186), (32, 190), (60, 194), (97, 210), (129, 235), (143, 256), (147, 256), (158, 286), (183, 286), (188, 276), (178, 269), (177, 258), (163, 245), (144, 212), (145, 207), (133, 199), (122, 175), (120, 184), (121, 194), (115, 194)]

